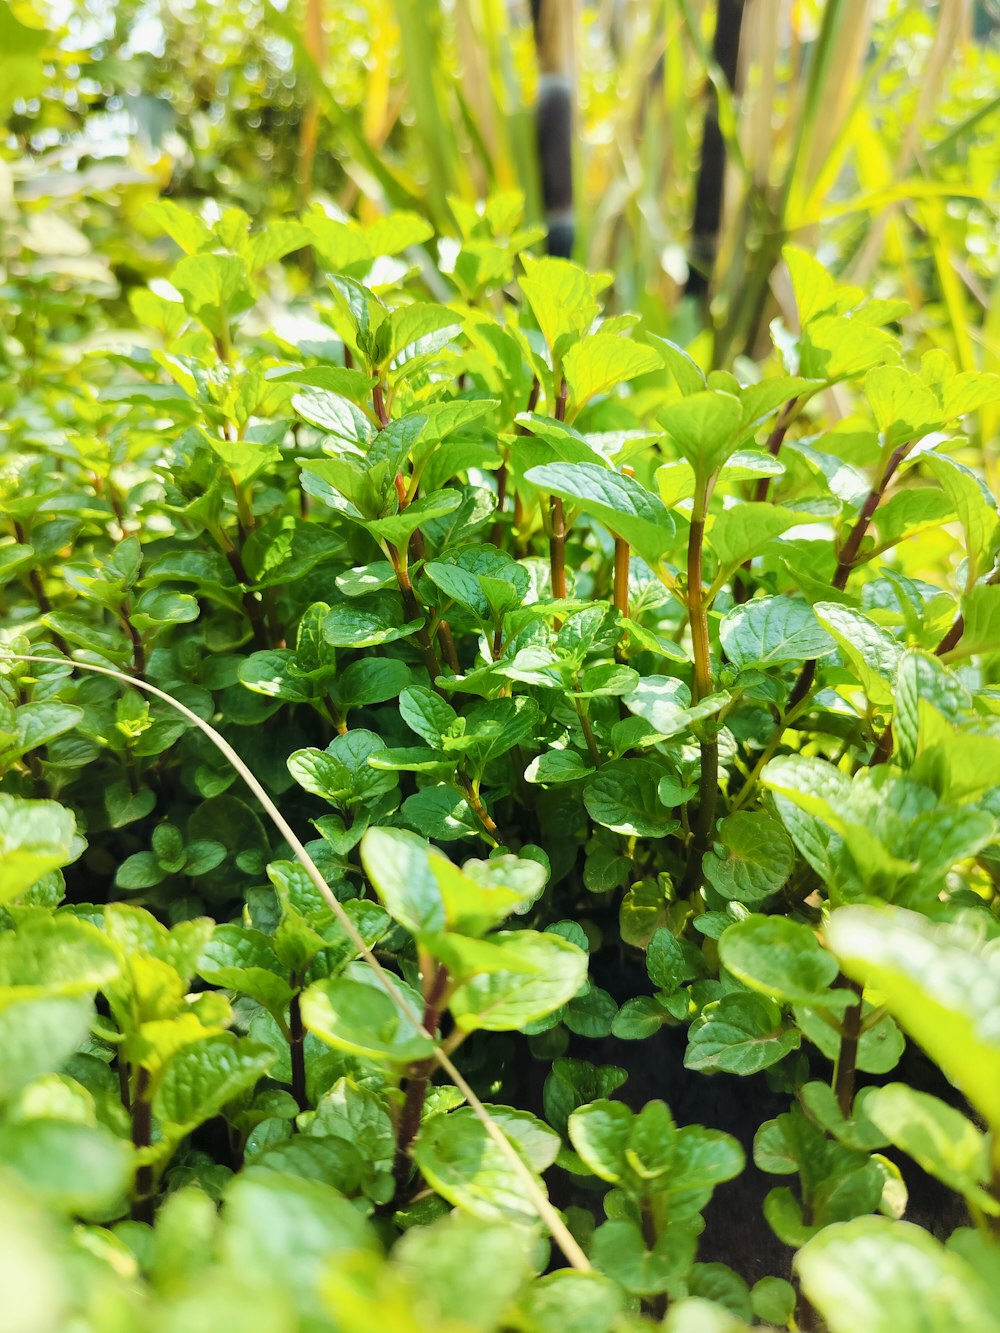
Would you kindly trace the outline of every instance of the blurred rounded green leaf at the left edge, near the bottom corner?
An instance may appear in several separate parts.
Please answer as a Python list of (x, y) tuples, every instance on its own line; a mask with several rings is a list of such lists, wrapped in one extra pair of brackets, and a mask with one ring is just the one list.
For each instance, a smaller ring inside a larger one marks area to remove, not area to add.
[(0, 1125), (0, 1162), (49, 1208), (101, 1216), (121, 1206), (132, 1176), (132, 1150), (103, 1125), (25, 1120)]

